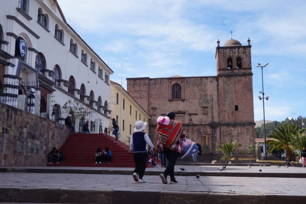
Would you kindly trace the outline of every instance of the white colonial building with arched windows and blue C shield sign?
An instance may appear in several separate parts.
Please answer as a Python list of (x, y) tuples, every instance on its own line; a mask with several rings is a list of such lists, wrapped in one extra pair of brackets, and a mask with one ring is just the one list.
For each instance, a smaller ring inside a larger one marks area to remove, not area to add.
[(101, 131), (110, 119), (110, 74), (56, 0), (1, 1), (0, 102), (60, 123), (70, 112)]

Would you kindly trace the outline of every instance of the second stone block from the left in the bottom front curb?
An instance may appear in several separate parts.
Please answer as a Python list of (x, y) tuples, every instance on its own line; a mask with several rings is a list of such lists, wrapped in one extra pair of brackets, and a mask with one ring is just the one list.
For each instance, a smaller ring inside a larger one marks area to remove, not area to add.
[(60, 203), (114, 203), (111, 190), (65, 189), (59, 190)]

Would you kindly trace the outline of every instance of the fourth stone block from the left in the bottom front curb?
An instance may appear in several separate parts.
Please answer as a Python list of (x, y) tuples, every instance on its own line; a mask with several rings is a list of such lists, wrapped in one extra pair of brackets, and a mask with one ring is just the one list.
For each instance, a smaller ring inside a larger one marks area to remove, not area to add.
[(160, 203), (165, 204), (208, 204), (209, 194), (207, 192), (177, 192), (177, 191), (161, 191)]

